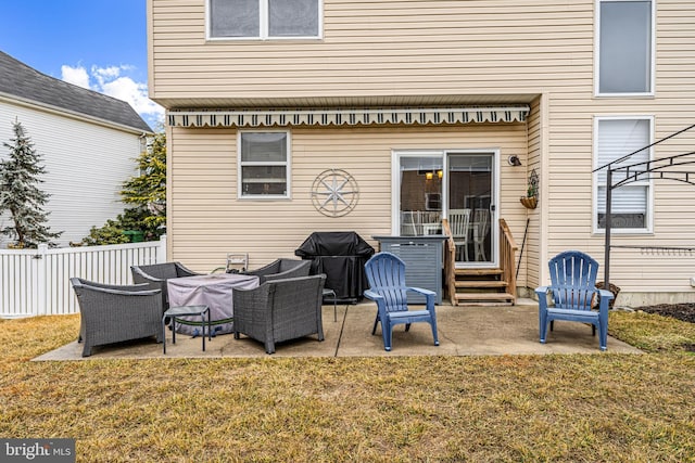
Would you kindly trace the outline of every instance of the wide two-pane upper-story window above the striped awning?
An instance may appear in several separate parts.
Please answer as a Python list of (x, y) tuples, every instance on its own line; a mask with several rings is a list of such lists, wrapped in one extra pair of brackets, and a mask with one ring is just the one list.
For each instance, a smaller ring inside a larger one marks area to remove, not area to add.
[(321, 0), (208, 0), (213, 39), (316, 39)]

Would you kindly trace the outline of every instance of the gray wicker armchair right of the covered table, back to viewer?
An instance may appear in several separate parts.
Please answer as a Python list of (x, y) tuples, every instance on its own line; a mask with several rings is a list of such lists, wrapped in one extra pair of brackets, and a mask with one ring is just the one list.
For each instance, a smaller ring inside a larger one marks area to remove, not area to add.
[(235, 339), (244, 334), (265, 344), (267, 353), (275, 344), (312, 334), (324, 340), (321, 299), (325, 274), (273, 280), (253, 290), (233, 291)]

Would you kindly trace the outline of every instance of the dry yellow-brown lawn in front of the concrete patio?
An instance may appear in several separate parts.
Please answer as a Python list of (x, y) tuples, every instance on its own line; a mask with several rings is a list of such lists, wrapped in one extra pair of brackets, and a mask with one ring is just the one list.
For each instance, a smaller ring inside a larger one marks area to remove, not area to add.
[(645, 355), (31, 362), (78, 318), (0, 321), (0, 436), (87, 462), (695, 461), (693, 324), (612, 312)]

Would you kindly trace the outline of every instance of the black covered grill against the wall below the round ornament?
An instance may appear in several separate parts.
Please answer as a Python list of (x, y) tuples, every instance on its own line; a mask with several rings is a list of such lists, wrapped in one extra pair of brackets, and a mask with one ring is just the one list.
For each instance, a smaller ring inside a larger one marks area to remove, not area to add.
[[(355, 304), (367, 286), (365, 262), (375, 249), (355, 232), (314, 232), (294, 254), (312, 260), (311, 274), (325, 273), (339, 303)], [(332, 300), (327, 298), (327, 303)]]

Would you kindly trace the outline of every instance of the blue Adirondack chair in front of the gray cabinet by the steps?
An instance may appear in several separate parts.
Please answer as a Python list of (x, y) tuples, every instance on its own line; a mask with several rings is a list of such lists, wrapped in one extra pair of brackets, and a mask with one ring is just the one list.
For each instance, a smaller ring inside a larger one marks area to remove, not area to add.
[[(405, 331), (410, 323), (426, 322), (432, 327), (434, 345), (439, 346), (437, 337), (437, 314), (434, 313), (435, 293), (421, 287), (408, 287), (405, 284), (405, 262), (391, 253), (375, 254), (365, 263), (365, 273), (369, 282), (369, 290), (365, 297), (377, 303), (377, 318), (374, 321), (371, 334), (376, 334), (377, 324), (381, 322), (383, 348), (391, 350), (391, 334), (393, 326), (405, 324)], [(424, 294), (425, 310), (408, 310), (407, 292)]]

